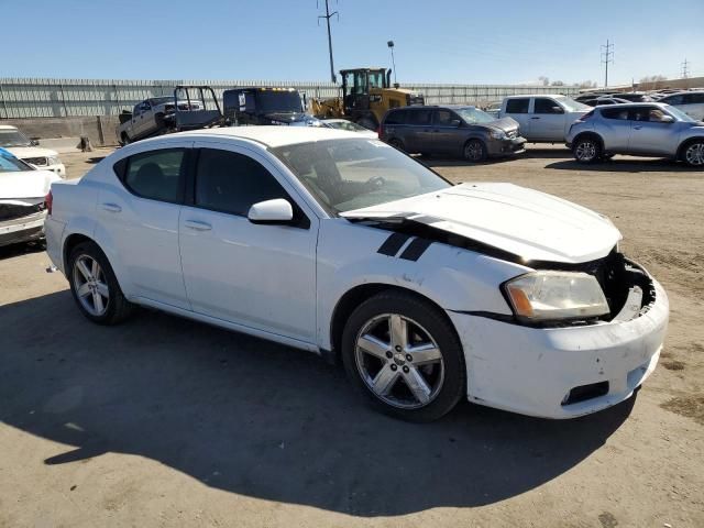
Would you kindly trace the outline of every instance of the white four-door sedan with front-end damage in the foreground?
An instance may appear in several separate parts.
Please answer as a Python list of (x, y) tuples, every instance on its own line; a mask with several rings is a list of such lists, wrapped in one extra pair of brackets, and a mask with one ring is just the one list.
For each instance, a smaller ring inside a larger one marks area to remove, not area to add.
[(136, 304), (341, 356), (408, 420), (461, 398), (595, 413), (630, 397), (666, 336), (668, 297), (607, 218), (514, 185), (453, 186), (354, 132), (172, 134), (52, 196), (47, 252), (91, 321)]

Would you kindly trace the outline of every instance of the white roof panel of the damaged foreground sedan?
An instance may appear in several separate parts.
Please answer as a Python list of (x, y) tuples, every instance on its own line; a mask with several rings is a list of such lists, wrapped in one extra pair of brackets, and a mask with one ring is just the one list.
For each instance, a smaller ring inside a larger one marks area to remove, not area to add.
[[(219, 129), (202, 129), (190, 132), (179, 132), (170, 134), (172, 138), (233, 138), (250, 140), (266, 146), (276, 147), (284, 145), (295, 145), (298, 143), (310, 143), (326, 140), (360, 139), (356, 132), (346, 130), (330, 129), (328, 127), (223, 127)], [(160, 136), (160, 139), (165, 139)]]

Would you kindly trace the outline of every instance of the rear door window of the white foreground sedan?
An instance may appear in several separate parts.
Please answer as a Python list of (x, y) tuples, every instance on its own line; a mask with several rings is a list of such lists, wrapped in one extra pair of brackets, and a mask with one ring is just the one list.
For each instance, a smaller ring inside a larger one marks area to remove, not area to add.
[(180, 202), (184, 188), (185, 148), (164, 148), (135, 154), (116, 164), (116, 173), (132, 194), (151, 200)]

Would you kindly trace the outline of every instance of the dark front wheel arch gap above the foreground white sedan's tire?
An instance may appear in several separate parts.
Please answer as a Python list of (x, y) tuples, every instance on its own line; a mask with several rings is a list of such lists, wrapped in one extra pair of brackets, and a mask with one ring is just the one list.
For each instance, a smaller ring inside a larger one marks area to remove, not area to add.
[(438, 314), (443, 317), (452, 330), (455, 332), (457, 329), (452, 323), (452, 320), (448, 317), (446, 310), (442, 309), (438, 302), (427, 297), (426, 295), (419, 294), (416, 290), (404, 288), (403, 286), (396, 286), (392, 284), (384, 283), (365, 283), (354, 286), (353, 288), (346, 290), (336, 302), (334, 308), (332, 310), (332, 317), (330, 318), (330, 346), (331, 354), (334, 358), (340, 356), (340, 351), (342, 349), (342, 332), (344, 330), (344, 324), (346, 320), (350, 318), (350, 315), (354, 311), (354, 309), (364, 302), (367, 299), (371, 299), (375, 295), (382, 292), (399, 292), (406, 295), (410, 295), (416, 297), (418, 300), (422, 300), (424, 302), (428, 302), (433, 308), (438, 310)]

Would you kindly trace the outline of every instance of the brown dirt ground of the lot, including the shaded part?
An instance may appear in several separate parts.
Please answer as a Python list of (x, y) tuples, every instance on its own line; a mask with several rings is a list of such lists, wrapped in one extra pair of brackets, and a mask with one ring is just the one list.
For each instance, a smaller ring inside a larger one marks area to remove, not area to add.
[[(63, 157), (77, 177), (107, 153)], [(147, 310), (91, 324), (44, 252), (2, 249), (0, 526), (704, 526), (704, 173), (558, 147), (426, 163), (613, 219), (672, 309), (637, 397), (570, 421), (463, 404), (404, 424), (312, 354)]]

